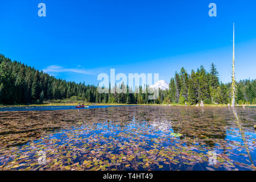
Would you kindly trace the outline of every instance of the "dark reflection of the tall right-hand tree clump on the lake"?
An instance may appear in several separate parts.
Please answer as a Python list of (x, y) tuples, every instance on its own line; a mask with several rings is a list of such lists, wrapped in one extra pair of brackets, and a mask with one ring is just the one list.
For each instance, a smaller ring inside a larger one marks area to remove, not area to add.
[(214, 147), (218, 139), (225, 139), (227, 126), (225, 115), (215, 109), (205, 108), (202, 111), (198, 107), (189, 110), (180, 107), (178, 115), (172, 114), (172, 129), (175, 133), (203, 140), (209, 147)]

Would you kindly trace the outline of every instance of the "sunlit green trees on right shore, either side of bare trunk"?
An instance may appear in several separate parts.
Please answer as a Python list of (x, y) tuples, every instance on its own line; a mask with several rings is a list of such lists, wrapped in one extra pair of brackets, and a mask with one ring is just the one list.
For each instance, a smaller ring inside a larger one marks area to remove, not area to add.
[[(204, 104), (228, 104), (231, 102), (232, 84), (223, 84), (218, 78), (216, 66), (212, 63), (207, 72), (203, 65), (189, 75), (184, 68), (171, 78), (168, 98), (171, 103), (195, 105), (201, 101)], [(256, 80), (241, 80), (237, 82), (237, 104), (255, 104)]]

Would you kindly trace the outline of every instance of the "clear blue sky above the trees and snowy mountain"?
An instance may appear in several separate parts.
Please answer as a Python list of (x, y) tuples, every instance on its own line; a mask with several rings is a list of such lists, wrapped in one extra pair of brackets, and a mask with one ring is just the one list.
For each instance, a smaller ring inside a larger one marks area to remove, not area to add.
[[(46, 17), (38, 4), (46, 4)], [(217, 17), (208, 15), (209, 3)], [(0, 53), (57, 78), (97, 85), (99, 73), (159, 73), (216, 64), (220, 80), (255, 78), (256, 1), (24, 1), (0, 3)]]

